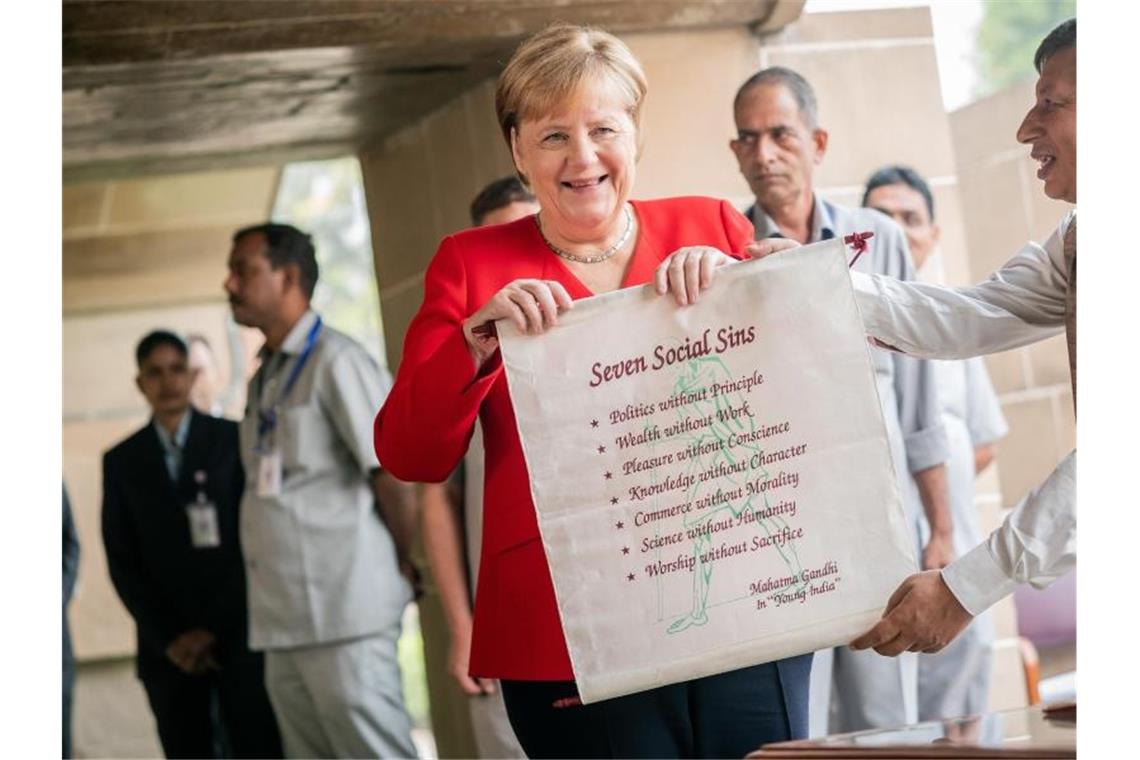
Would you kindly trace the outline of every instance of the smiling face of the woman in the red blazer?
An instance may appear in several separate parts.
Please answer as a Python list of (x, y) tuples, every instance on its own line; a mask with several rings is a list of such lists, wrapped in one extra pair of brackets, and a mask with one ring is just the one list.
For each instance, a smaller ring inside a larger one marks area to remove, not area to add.
[(616, 87), (584, 82), (552, 113), (523, 120), (511, 152), (538, 198), (544, 230), (597, 243), (620, 227), (636, 175), (637, 128)]

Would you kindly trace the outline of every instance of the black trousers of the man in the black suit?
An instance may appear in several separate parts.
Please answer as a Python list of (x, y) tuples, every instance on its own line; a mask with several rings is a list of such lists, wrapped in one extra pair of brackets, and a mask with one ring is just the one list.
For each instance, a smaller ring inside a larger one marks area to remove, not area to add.
[(226, 657), (202, 676), (150, 662), (142, 686), (168, 758), (284, 757), (260, 653)]

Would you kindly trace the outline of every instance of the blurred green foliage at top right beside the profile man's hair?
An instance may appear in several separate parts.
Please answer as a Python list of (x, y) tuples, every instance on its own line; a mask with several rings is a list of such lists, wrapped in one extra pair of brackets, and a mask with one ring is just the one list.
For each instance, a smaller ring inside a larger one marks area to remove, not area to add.
[(1075, 0), (990, 0), (978, 28), (976, 97), (1036, 75), (1033, 54), (1049, 32), (1076, 15)]

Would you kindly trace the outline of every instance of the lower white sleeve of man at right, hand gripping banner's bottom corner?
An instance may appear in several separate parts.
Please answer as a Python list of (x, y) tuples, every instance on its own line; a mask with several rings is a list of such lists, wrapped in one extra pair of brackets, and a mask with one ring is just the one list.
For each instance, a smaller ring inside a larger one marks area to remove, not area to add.
[(1020, 583), (1044, 588), (1076, 567), (1076, 451), (1029, 492), (984, 542), (942, 571), (978, 615)]

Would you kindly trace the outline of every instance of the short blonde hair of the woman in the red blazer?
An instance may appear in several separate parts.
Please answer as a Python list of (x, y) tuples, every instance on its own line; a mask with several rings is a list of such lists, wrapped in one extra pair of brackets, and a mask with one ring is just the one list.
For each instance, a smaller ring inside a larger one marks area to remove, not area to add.
[(511, 147), (511, 130), (551, 113), (579, 85), (602, 80), (616, 85), (641, 131), (641, 106), (649, 85), (626, 43), (592, 26), (553, 24), (519, 46), (495, 89), (495, 114)]

